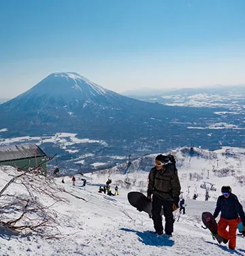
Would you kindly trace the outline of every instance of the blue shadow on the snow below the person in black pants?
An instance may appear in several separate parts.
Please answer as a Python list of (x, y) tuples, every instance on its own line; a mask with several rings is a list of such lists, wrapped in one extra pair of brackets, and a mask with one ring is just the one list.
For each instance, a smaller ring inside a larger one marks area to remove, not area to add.
[(173, 246), (174, 245), (174, 240), (164, 238), (163, 236), (157, 236), (152, 231), (141, 232), (133, 229), (126, 229), (124, 227), (122, 227), (120, 230), (135, 233), (139, 237), (140, 242), (146, 245), (151, 245), (151, 246)]

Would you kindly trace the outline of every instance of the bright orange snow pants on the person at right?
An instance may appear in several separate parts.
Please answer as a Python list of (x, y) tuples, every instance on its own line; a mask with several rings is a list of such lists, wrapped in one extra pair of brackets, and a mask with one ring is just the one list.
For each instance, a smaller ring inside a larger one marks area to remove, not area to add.
[[(227, 231), (227, 226), (229, 231)], [(229, 240), (229, 249), (235, 249), (236, 229), (238, 228), (238, 219), (223, 219), (218, 221), (218, 234)]]

